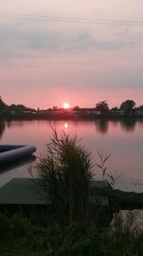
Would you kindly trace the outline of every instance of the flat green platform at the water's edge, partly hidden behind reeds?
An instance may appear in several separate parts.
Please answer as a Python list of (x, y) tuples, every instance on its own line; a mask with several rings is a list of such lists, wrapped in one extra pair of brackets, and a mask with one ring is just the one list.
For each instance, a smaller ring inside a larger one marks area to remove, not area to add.
[[(108, 187), (108, 182), (93, 180), (92, 188), (103, 189)], [(92, 203), (109, 206), (108, 196), (91, 195)], [(40, 188), (38, 178), (13, 178), (0, 189), (0, 205), (46, 205), (46, 194)], [(49, 201), (50, 203), (50, 201)]]

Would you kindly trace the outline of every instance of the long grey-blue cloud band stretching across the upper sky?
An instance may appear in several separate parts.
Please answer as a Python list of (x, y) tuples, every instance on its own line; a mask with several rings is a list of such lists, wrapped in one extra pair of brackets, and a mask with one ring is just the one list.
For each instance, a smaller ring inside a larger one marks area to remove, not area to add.
[(56, 29), (37, 31), (20, 29), (14, 25), (0, 25), (0, 58), (22, 58), (23, 50), (50, 52), (83, 52), (89, 50), (119, 51), (143, 43), (143, 33), (95, 36), (88, 31), (80, 33)]

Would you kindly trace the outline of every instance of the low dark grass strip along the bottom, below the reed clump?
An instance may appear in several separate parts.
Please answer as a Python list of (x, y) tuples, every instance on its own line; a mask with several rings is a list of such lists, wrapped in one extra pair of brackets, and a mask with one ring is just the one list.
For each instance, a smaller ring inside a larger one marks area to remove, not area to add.
[(77, 223), (50, 224), (46, 214), (32, 212), (27, 217), (5, 212), (0, 214), (0, 255), (140, 256), (143, 233), (134, 232), (132, 224), (124, 226), (120, 219), (115, 228), (89, 231)]

